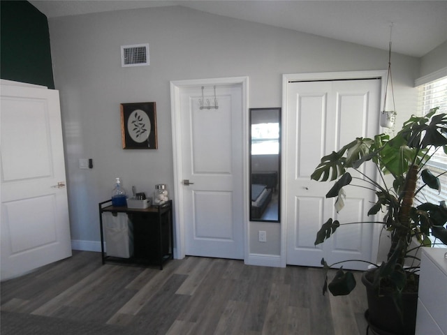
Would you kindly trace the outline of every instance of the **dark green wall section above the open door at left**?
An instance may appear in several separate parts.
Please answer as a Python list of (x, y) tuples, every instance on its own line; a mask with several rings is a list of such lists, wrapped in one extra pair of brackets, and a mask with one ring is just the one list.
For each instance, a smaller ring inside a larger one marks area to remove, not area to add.
[(0, 1), (1, 79), (54, 89), (47, 17), (28, 1)]

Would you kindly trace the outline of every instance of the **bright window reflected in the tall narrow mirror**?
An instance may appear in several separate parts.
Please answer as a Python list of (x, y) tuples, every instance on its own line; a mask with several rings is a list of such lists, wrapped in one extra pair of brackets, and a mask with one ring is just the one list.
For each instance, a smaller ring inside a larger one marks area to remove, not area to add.
[(279, 154), (279, 123), (251, 125), (251, 154)]

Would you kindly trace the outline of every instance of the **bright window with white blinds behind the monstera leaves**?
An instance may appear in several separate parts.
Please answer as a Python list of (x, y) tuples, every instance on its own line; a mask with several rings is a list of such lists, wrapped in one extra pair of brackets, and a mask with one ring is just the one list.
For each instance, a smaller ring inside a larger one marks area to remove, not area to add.
[[(447, 112), (447, 77), (442, 77), (439, 80), (427, 82), (419, 87), (418, 98), (418, 114), (425, 115), (431, 108), (439, 107), (438, 113)], [(430, 161), (425, 165), (434, 175), (442, 174), (447, 171), (447, 155), (442, 149), (438, 151), (430, 152), (433, 154)], [(432, 188), (425, 187), (422, 202), (434, 202), (437, 203), (442, 200), (447, 200), (447, 174), (443, 174), (439, 177), (441, 182), (441, 191), (438, 192)], [(422, 186), (422, 181), (418, 181), (418, 186)], [(435, 241), (432, 238), (432, 241)]]

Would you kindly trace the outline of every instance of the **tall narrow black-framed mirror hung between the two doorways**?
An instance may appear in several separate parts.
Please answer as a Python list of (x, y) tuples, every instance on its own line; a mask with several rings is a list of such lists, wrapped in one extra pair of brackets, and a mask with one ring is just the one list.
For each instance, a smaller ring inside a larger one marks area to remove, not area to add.
[(250, 108), (250, 221), (279, 222), (281, 108)]

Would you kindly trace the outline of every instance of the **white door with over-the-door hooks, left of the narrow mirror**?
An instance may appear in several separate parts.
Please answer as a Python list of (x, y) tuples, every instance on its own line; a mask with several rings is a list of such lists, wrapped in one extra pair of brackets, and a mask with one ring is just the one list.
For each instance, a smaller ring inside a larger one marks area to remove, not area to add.
[[(244, 258), (244, 110), (242, 85), (185, 87), (179, 94), (177, 224), (184, 224), (184, 253)], [(189, 185), (184, 180), (189, 180)]]

